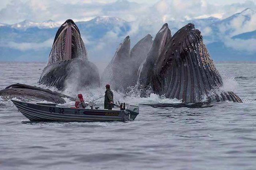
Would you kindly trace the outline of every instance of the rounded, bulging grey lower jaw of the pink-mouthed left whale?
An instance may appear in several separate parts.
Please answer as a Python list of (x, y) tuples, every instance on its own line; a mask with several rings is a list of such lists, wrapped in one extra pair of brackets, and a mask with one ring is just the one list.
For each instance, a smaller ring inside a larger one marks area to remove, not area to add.
[(46, 66), (39, 79), (40, 84), (64, 90), (66, 84), (79, 87), (99, 86), (99, 72), (95, 64), (81, 59), (63, 60)]

